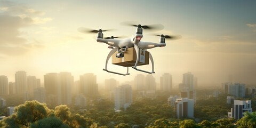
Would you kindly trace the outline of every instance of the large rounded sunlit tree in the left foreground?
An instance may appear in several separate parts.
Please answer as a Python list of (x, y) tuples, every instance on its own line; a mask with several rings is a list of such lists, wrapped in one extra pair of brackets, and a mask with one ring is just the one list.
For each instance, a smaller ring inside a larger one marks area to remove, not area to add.
[(47, 117), (50, 109), (45, 103), (38, 101), (26, 101), (14, 109), (14, 114), (4, 119), (6, 127), (29, 127), (31, 123)]

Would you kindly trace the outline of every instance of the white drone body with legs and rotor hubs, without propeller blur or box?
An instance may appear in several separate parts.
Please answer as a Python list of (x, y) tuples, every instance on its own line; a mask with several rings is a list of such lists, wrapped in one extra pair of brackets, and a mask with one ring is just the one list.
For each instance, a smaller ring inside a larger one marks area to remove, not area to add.
[[(136, 25), (133, 25), (136, 26)], [(142, 71), (144, 73), (148, 73), (148, 74), (152, 74), (155, 73), (154, 71), (154, 60), (152, 55), (149, 53), (149, 59), (152, 63), (152, 70), (151, 71), (146, 71), (146, 70), (142, 70), (142, 69), (138, 69), (138, 62), (139, 62), (139, 50), (145, 50), (147, 51), (147, 49), (152, 49), (154, 47), (164, 47), (165, 44), (165, 38), (173, 38), (171, 36), (164, 36), (164, 35), (157, 35), (160, 36), (159, 39), (159, 43), (153, 43), (153, 42), (142, 42), (141, 39), (143, 37), (142, 35), (142, 28), (149, 28), (148, 26), (141, 26), (138, 25), (136, 26), (137, 30), (136, 30), (136, 34), (134, 35), (133, 38), (125, 38), (125, 39), (115, 39), (117, 37), (107, 37), (107, 38), (103, 38), (103, 33), (102, 31), (106, 31), (106, 30), (92, 30), (90, 31), (90, 33), (97, 33), (97, 42), (100, 43), (106, 43), (108, 44), (110, 49), (113, 49), (109, 52), (107, 59), (106, 59), (106, 65), (105, 65), (105, 71), (107, 71), (108, 73), (114, 73), (114, 74), (118, 74), (118, 75), (130, 75), (129, 73), (129, 67), (127, 67), (127, 72), (126, 74), (122, 74), (122, 73), (117, 73), (115, 71), (110, 71), (107, 69), (108, 66), (108, 61), (111, 58), (111, 56), (118, 51), (118, 53), (116, 54), (116, 57), (118, 58), (122, 58), (124, 57), (124, 53), (122, 53), (122, 51), (125, 51), (126, 49), (130, 48), (130, 47), (134, 47), (136, 55), (137, 55), (137, 60), (135, 62), (135, 65), (132, 66), (132, 68), (138, 70), (138, 71)], [(121, 51), (121, 52), (120, 52)]]

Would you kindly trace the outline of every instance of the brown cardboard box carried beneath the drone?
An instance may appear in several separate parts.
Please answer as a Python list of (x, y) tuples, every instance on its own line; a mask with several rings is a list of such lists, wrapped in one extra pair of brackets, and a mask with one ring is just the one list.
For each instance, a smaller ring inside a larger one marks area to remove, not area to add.
[[(124, 52), (123, 58), (117, 58), (116, 57), (117, 53), (118, 52), (116, 51), (112, 55), (112, 64), (123, 66), (123, 67), (132, 67), (135, 65), (137, 57), (136, 57), (136, 51), (135, 51), (134, 47), (126, 49), (126, 51)], [(139, 58), (140, 58), (140, 60), (138, 62), (138, 66), (149, 64), (149, 52), (148, 51), (140, 50)]]

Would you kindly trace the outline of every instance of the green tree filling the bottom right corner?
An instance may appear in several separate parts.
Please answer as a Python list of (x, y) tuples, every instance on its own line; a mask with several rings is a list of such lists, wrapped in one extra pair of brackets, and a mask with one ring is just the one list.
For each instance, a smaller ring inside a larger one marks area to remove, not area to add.
[(248, 113), (246, 112), (244, 117), (242, 117), (237, 122), (238, 128), (255, 128), (256, 127), (256, 112)]

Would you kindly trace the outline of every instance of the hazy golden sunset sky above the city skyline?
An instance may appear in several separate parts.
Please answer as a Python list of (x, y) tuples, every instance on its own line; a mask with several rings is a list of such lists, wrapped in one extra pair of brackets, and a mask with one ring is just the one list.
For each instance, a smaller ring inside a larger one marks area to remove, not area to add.
[[(75, 80), (93, 73), (98, 83), (115, 78), (132, 81), (137, 74), (110, 74), (102, 69), (110, 49), (95, 41), (95, 34), (80, 33), (79, 27), (113, 29), (104, 36), (133, 37), (132, 21), (141, 25), (161, 23), (161, 31), (144, 31), (141, 41), (158, 42), (153, 34), (181, 35), (166, 40), (165, 47), (148, 50), (154, 58), (153, 76), (169, 73), (174, 83), (190, 71), (198, 85), (228, 81), (256, 83), (256, 1), (3, 1), (0, 0), (0, 75), (14, 82), (16, 71), (41, 78), (46, 73), (68, 71)], [(140, 66), (151, 70), (151, 65)], [(126, 72), (111, 65), (109, 69)]]

